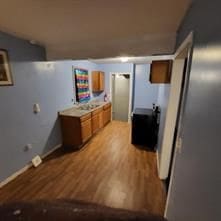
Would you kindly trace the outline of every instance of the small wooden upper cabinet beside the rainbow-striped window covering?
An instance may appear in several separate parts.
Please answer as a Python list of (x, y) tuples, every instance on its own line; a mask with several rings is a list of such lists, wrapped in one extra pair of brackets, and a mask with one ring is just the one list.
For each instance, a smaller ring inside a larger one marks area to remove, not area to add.
[(104, 72), (92, 71), (92, 91), (104, 91)]

